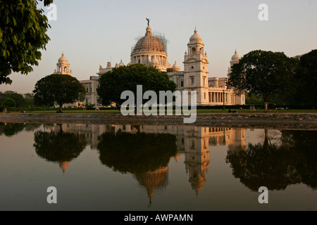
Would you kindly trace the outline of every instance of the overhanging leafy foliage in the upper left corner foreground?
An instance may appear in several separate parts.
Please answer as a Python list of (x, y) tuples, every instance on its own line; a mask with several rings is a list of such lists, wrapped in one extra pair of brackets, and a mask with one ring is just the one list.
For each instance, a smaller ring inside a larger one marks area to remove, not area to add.
[[(44, 0), (44, 6), (52, 2)], [(0, 15), (0, 84), (11, 84), (11, 72), (27, 75), (39, 65), (50, 25), (36, 0), (0, 1)]]

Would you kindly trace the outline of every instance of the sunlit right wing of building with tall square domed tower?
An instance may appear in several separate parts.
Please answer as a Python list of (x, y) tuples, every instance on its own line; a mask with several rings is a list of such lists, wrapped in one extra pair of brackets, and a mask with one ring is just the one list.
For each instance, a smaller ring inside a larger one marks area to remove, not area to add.
[[(240, 56), (235, 51), (235, 55), (230, 60), (230, 68), (233, 64), (239, 63)], [(168, 70), (168, 77), (173, 80), (180, 91), (196, 91), (197, 105), (245, 105), (245, 96), (236, 95), (232, 89), (226, 85), (231, 69), (228, 70), (227, 77), (209, 77), (209, 60), (204, 43), (197, 29), (189, 38), (187, 51), (184, 56), (184, 71), (180, 71), (175, 62)]]

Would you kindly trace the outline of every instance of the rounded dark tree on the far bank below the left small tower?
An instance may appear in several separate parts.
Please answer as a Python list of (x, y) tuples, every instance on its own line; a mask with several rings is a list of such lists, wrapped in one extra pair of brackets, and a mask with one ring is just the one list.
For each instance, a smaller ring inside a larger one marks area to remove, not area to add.
[(75, 77), (54, 74), (40, 79), (33, 93), (37, 105), (57, 103), (62, 110), (63, 104), (84, 101), (86, 90)]

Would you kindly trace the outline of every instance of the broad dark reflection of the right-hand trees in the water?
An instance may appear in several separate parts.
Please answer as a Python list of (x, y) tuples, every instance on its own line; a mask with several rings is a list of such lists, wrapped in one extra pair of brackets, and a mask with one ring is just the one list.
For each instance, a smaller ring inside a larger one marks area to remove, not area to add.
[(281, 144), (271, 144), (267, 131), (264, 143), (249, 143), (247, 150), (228, 152), (232, 174), (252, 191), (266, 186), (282, 190), (304, 183), (316, 188), (316, 131), (282, 131)]

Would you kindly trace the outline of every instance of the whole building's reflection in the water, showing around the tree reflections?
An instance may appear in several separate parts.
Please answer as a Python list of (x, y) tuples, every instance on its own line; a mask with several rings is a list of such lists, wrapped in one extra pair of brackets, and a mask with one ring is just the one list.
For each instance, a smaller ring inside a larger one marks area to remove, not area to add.
[[(55, 125), (54, 129), (60, 129)], [(185, 169), (189, 175), (189, 183), (199, 194), (204, 188), (206, 173), (209, 169), (209, 147), (228, 146), (229, 150), (245, 149), (245, 129), (225, 127), (165, 126), (165, 125), (118, 125), (118, 124), (62, 124), (63, 131), (85, 134), (87, 143), (97, 149), (99, 136), (104, 132), (116, 134), (118, 131), (135, 134), (173, 134), (177, 137), (178, 153), (173, 157), (176, 162), (182, 153), (185, 154)], [(67, 168), (67, 167), (66, 167)], [(151, 200), (154, 188), (163, 182), (163, 174), (168, 167), (159, 168), (154, 172), (137, 174), (135, 177), (142, 186), (147, 188)], [(148, 180), (147, 180), (148, 179)], [(163, 183), (162, 183), (163, 182)]]

